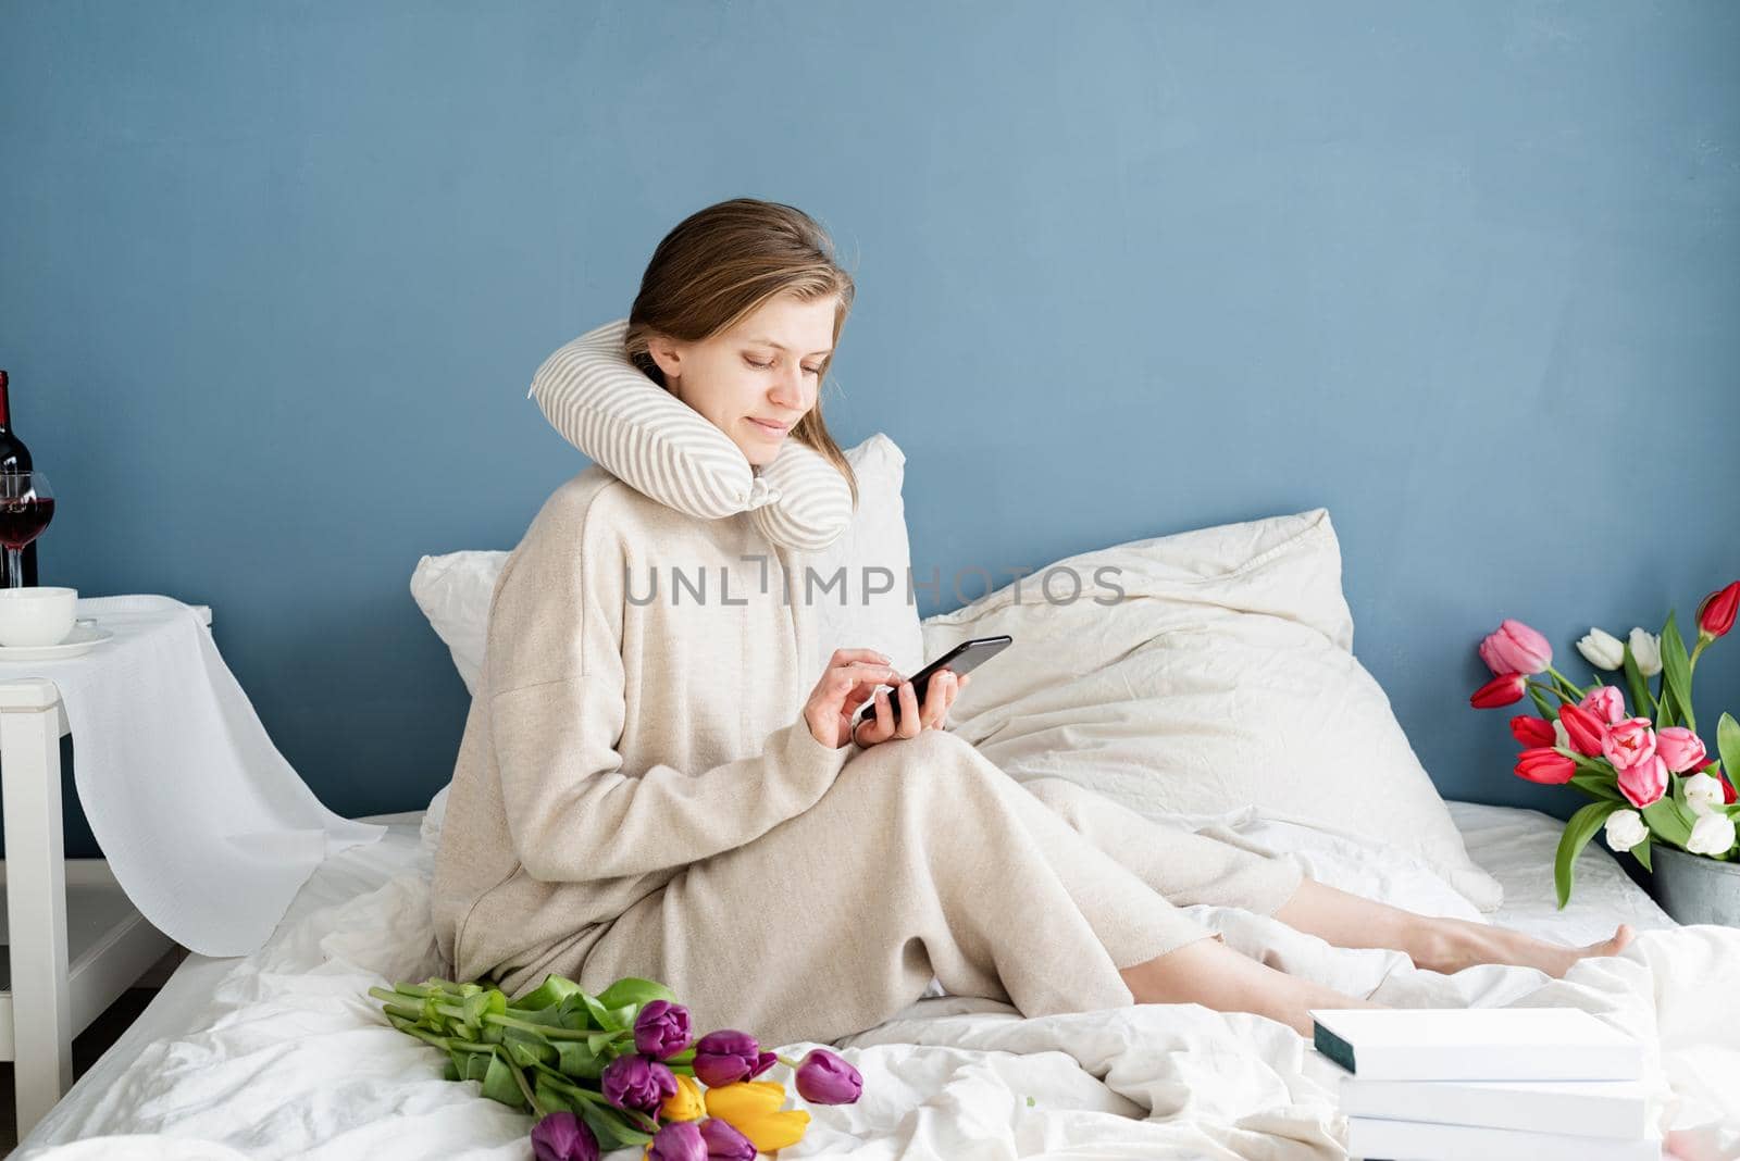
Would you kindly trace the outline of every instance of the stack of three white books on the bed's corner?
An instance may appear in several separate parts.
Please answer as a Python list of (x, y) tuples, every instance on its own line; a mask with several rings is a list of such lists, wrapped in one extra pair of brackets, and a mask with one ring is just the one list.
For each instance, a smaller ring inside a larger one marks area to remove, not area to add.
[(1347, 1151), (1394, 1161), (1658, 1161), (1643, 1045), (1580, 1008), (1314, 1010)]

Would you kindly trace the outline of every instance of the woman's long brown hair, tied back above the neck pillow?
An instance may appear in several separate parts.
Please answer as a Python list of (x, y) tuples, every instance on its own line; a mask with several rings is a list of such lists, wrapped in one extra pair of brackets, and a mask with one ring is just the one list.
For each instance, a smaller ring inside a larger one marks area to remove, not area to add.
[[(668, 391), (665, 372), (647, 351), (654, 334), (701, 342), (736, 327), (774, 295), (790, 294), (802, 302), (833, 295), (837, 348), (853, 290), (853, 276), (833, 259), (833, 240), (809, 214), (780, 202), (731, 198), (682, 219), (652, 250), (628, 311), (623, 348), (635, 367)], [(792, 428), (792, 438), (840, 469), (856, 509), (858, 478), (821, 419), (821, 386), (832, 365), (830, 353), (816, 375), (816, 405)]]

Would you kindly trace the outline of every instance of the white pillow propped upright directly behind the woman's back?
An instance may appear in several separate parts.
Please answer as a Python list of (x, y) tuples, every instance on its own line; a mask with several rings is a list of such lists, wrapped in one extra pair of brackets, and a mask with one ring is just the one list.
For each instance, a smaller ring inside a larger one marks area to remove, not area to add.
[[(924, 633), (919, 629), (917, 605), (907, 594), (912, 570), (907, 509), (901, 501), (907, 455), (898, 443), (877, 433), (847, 448), (846, 461), (858, 476), (858, 513), (826, 547), (793, 558), (793, 563), (802, 561), (818, 577), (811, 600), (818, 605), (821, 657), (813, 657), (809, 664), (820, 678), (821, 662), (835, 648), (875, 648), (887, 653), (896, 669), (912, 674), (924, 666)], [(832, 466), (828, 471), (842, 478)], [(435, 634), (447, 643), (452, 666), (472, 695), (477, 695), (478, 674), (484, 671), (489, 603), (506, 560), (508, 553), (501, 551), (447, 553), (421, 558), (411, 574), (411, 594)], [(873, 572), (877, 568), (894, 579), (893, 587), (882, 594), (872, 593), (887, 586), (887, 579)], [(844, 570), (844, 587), (835, 584), (823, 589), (839, 570)], [(802, 575), (793, 575), (792, 580), (804, 584)], [(426, 850), (435, 850), (445, 810), (447, 787), (442, 786), (423, 815)]]

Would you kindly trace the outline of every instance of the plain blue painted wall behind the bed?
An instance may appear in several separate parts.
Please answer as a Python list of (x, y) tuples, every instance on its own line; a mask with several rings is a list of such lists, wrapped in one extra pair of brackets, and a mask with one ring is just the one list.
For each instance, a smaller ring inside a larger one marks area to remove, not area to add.
[[(738, 195), (856, 268), (826, 408), (907, 450), (920, 568), (1328, 506), (1448, 794), (1576, 805), (1467, 707), (1500, 617), (1583, 673), (1740, 575), (1730, 3), (42, 0), (0, 43), (44, 582), (214, 605), (348, 815), (451, 773), (418, 556), (583, 466), (531, 372)], [(1700, 685), (1740, 711), (1740, 645)]]

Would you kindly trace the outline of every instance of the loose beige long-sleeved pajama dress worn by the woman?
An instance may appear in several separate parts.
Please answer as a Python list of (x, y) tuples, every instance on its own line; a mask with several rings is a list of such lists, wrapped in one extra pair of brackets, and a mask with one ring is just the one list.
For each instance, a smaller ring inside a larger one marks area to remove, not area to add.
[(948, 732), (823, 746), (813, 601), (839, 596), (802, 568), (746, 514), (599, 466), (545, 502), (496, 584), (435, 857), (454, 979), (639, 975), (698, 1031), (828, 1043), (933, 975), (1025, 1015), (1128, 1005), (1119, 968), (1211, 937), (1181, 906), (1298, 888), (1291, 860), (1016, 782)]

